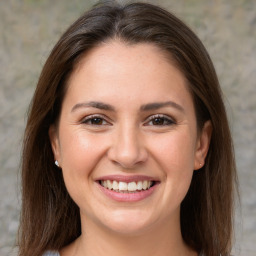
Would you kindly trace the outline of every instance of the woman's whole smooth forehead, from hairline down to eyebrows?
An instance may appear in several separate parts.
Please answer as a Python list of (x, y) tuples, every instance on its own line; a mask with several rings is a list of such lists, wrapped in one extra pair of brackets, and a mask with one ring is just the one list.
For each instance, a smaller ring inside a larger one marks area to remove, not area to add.
[(168, 101), (172, 94), (173, 98), (186, 101), (185, 98), (191, 98), (186, 79), (173, 63), (154, 44), (110, 41), (81, 58), (68, 81), (67, 94), (76, 94), (81, 100), (90, 96), (99, 100), (116, 96), (126, 103), (128, 98)]

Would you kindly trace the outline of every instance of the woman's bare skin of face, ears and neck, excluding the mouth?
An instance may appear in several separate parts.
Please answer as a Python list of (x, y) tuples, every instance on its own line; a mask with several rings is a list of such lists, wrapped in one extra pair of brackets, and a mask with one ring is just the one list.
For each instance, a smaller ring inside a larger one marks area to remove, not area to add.
[[(113, 109), (84, 104), (91, 101)], [(142, 109), (169, 101), (176, 105)], [(159, 48), (110, 41), (92, 49), (71, 75), (49, 135), (82, 222), (61, 256), (197, 255), (182, 240), (180, 204), (204, 164), (211, 124), (198, 132), (186, 80)], [(117, 202), (99, 189), (104, 175), (147, 175), (159, 184), (143, 200)]]

